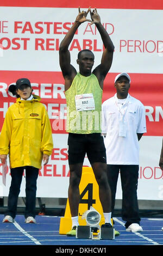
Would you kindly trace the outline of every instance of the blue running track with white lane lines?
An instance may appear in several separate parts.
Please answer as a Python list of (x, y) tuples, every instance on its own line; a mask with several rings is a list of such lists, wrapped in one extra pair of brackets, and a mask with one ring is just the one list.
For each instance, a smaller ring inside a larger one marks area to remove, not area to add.
[[(120, 217), (114, 218), (114, 227), (116, 230), (120, 231), (120, 236), (116, 236), (115, 240), (76, 239), (76, 237), (60, 235), (59, 216), (38, 215), (35, 218), (36, 224), (25, 223), (23, 215), (17, 215), (15, 218), (15, 223), (2, 223), (3, 218), (4, 215), (0, 215), (0, 245), (4, 247), (19, 246), (19, 248), (21, 248), (21, 246), (25, 246), (26, 248), (31, 248), (31, 246), (34, 246), (39, 248), (38, 246), (41, 245), (52, 246), (53, 252), (62, 253), (62, 251), (59, 252), (56, 250), (58, 248), (60, 250), (64, 250), (64, 248), (66, 248), (65, 246), (67, 246), (67, 248), (73, 248), (73, 246), (78, 246), (76, 248), (82, 246), (82, 248), (85, 246), (91, 246), (91, 248), (100, 248), (101, 246), (104, 248), (105, 246), (106, 248), (108, 248), (108, 246), (124, 246), (125, 248), (130, 248), (130, 246), (137, 245), (163, 245), (163, 231), (161, 230), (163, 227), (163, 218), (142, 218), (141, 226), (143, 228), (143, 232), (141, 233), (127, 232), (122, 219)], [(41, 248), (43, 249), (43, 247)], [(149, 248), (152, 249), (152, 247)], [(82, 251), (83, 249), (80, 250), (80, 252), (78, 250), (76, 251), (78, 251), (78, 253), (84, 253)], [(106, 251), (103, 252), (106, 253)], [(67, 251), (67, 253), (70, 255), (74, 254), (70, 251)], [(97, 251), (94, 251), (93, 253), (97, 253)]]

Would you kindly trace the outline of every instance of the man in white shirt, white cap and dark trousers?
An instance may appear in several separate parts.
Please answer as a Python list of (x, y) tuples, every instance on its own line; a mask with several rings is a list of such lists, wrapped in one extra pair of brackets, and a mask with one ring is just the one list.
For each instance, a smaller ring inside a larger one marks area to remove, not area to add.
[(142, 231), (137, 202), (139, 175), (139, 140), (146, 130), (145, 108), (130, 96), (130, 77), (127, 73), (115, 77), (116, 94), (102, 105), (102, 131), (106, 136), (108, 181), (112, 193), (112, 212), (115, 206), (118, 174), (122, 184), (122, 220), (126, 231)]

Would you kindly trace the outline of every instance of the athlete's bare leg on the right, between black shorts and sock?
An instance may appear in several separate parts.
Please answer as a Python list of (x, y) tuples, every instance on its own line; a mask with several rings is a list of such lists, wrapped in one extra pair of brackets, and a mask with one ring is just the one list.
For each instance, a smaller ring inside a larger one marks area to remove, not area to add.
[(106, 174), (106, 163), (95, 162), (91, 165), (99, 186), (99, 200), (103, 212), (111, 212), (111, 190)]

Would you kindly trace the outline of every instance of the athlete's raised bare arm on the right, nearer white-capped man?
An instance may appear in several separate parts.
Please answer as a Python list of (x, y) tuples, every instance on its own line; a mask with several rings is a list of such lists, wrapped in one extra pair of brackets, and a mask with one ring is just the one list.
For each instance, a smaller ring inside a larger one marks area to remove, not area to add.
[(90, 25), (95, 23), (105, 47), (105, 50), (103, 52), (102, 59), (101, 59), (101, 64), (99, 64), (95, 68), (95, 70), (93, 70), (93, 74), (95, 74), (98, 78), (99, 85), (101, 86), (101, 88), (103, 88), (103, 81), (105, 79), (105, 76), (108, 74), (108, 71), (111, 68), (112, 57), (114, 53), (114, 45), (112, 44), (112, 41), (110, 39), (108, 32), (106, 32), (105, 28), (102, 26), (101, 18), (97, 13), (96, 8), (93, 11), (90, 10), (90, 15), (92, 19), (92, 22)]

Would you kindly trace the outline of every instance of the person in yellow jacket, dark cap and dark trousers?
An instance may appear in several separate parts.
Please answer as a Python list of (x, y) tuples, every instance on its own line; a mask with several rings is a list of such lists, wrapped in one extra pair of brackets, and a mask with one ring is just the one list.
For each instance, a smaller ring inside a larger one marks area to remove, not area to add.
[(17, 199), (20, 193), (22, 175), (26, 169), (26, 211), (27, 223), (35, 223), (36, 180), (41, 162), (48, 163), (52, 154), (53, 140), (51, 124), (40, 97), (32, 94), (27, 78), (12, 84), (9, 92), (16, 95), (16, 103), (8, 108), (0, 135), (0, 159), (7, 161), (9, 154), (11, 186), (8, 210), (3, 222), (14, 222)]

